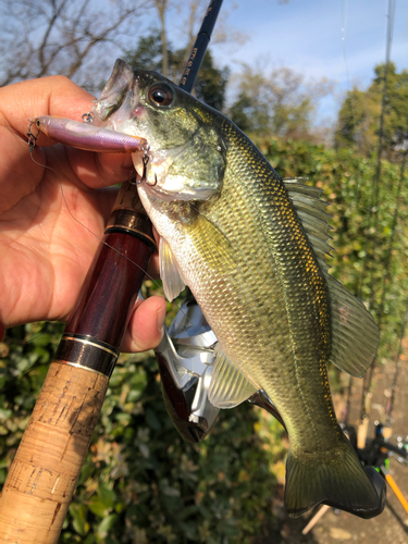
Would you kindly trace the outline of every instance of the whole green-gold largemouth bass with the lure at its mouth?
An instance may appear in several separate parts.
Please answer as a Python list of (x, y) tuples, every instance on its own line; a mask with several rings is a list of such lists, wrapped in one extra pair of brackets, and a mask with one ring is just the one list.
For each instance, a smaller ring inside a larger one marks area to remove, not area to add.
[(319, 503), (378, 515), (383, 480), (364, 471), (336, 421), (326, 364), (361, 376), (379, 331), (327, 273), (320, 189), (281, 180), (227, 118), (123, 61), (94, 113), (150, 145), (138, 190), (160, 235), (164, 292), (172, 299), (188, 285), (217, 335), (210, 401), (231, 408), (263, 390), (280, 411), (289, 515)]

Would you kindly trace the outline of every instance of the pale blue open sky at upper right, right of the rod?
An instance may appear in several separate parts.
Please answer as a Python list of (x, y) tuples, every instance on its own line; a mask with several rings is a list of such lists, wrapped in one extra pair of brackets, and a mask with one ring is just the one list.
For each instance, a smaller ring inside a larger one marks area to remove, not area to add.
[[(236, 9), (232, 11), (233, 3)], [(228, 25), (244, 32), (248, 40), (242, 47), (218, 45), (212, 50), (233, 71), (239, 70), (239, 61), (251, 64), (268, 58), (271, 66), (289, 66), (306, 77), (327, 77), (335, 84), (334, 96), (323, 101), (320, 116), (333, 120), (347, 88), (356, 84), (367, 88), (374, 65), (385, 60), (387, 5), (387, 0), (289, 0), (283, 4), (224, 0), (222, 11), (230, 12)], [(169, 16), (169, 28), (173, 16)], [(396, 0), (391, 59), (398, 71), (408, 69), (407, 0)]]

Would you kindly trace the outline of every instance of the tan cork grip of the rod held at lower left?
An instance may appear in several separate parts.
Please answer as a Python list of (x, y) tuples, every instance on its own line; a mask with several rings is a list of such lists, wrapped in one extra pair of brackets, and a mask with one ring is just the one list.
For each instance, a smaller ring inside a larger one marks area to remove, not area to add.
[(1, 544), (54, 544), (109, 379), (52, 362), (0, 497)]

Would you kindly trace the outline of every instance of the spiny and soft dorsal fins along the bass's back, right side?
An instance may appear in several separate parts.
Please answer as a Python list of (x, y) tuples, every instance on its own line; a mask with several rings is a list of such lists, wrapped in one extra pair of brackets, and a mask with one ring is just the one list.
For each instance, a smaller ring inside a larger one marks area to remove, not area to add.
[(362, 376), (375, 357), (380, 332), (362, 302), (329, 274), (325, 255), (329, 245), (330, 215), (320, 200), (321, 189), (304, 185), (299, 180), (283, 180), (299, 221), (313, 248), (329, 289), (332, 318), (332, 351), (330, 360), (344, 372)]

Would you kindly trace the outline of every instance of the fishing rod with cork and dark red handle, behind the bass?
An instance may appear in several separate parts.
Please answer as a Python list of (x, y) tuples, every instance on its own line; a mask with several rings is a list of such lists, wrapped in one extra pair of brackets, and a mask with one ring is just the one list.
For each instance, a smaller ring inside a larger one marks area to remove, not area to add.
[[(191, 89), (222, 0), (211, 0), (183, 75)], [(188, 73), (187, 73), (188, 71)], [(151, 223), (125, 183), (66, 322), (0, 497), (1, 544), (55, 544), (149, 259)], [(135, 265), (136, 264), (136, 265)]]

